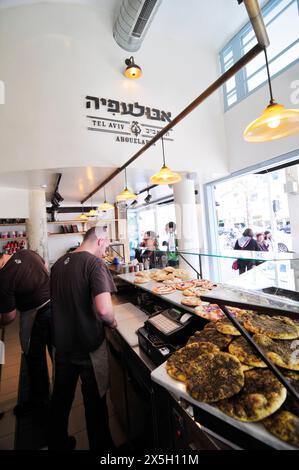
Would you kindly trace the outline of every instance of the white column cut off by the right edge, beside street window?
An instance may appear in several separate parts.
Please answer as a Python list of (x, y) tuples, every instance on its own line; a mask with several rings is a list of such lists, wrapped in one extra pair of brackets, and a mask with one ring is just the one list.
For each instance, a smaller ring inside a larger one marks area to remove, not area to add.
[(292, 250), (299, 253), (299, 165), (286, 168), (285, 191), (289, 203)]

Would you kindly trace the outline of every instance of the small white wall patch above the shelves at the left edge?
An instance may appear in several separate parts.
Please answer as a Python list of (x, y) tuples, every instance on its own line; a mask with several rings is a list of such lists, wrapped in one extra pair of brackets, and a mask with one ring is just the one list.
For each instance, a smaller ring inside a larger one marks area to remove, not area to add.
[(28, 215), (27, 190), (0, 188), (0, 219), (26, 219)]

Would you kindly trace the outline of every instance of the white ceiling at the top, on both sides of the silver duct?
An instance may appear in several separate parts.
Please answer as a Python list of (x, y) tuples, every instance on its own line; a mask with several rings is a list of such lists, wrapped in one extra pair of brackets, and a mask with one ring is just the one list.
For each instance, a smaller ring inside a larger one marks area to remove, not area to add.
[[(262, 7), (267, 0), (259, 0)], [(90, 4), (109, 11), (113, 23), (122, 0), (0, 0), (0, 8), (35, 3)], [(147, 33), (191, 37), (194, 44), (217, 52), (248, 21), (244, 5), (237, 0), (163, 0)], [(112, 35), (112, 29), (111, 29)]]

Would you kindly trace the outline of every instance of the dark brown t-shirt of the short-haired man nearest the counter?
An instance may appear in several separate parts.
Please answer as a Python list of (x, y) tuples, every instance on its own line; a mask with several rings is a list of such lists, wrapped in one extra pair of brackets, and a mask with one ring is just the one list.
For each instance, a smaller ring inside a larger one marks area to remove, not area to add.
[(115, 291), (105, 263), (87, 251), (68, 253), (54, 264), (51, 308), (57, 352), (86, 353), (101, 345), (103, 322), (93, 306), (93, 299), (103, 292)]

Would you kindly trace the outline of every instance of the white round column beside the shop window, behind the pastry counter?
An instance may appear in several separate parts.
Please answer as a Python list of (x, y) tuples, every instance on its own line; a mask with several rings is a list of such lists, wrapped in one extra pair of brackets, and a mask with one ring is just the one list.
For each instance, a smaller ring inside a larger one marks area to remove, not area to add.
[[(173, 186), (173, 195), (179, 250), (198, 251), (198, 210), (195, 200), (194, 181), (192, 179), (188, 179), (188, 177), (183, 177), (180, 183)], [(198, 257), (190, 255), (185, 257), (198, 271)], [(186, 263), (182, 262), (181, 259), (180, 265), (184, 265), (184, 268), (187, 269), (190, 272), (190, 275), (194, 277), (194, 271)]]

